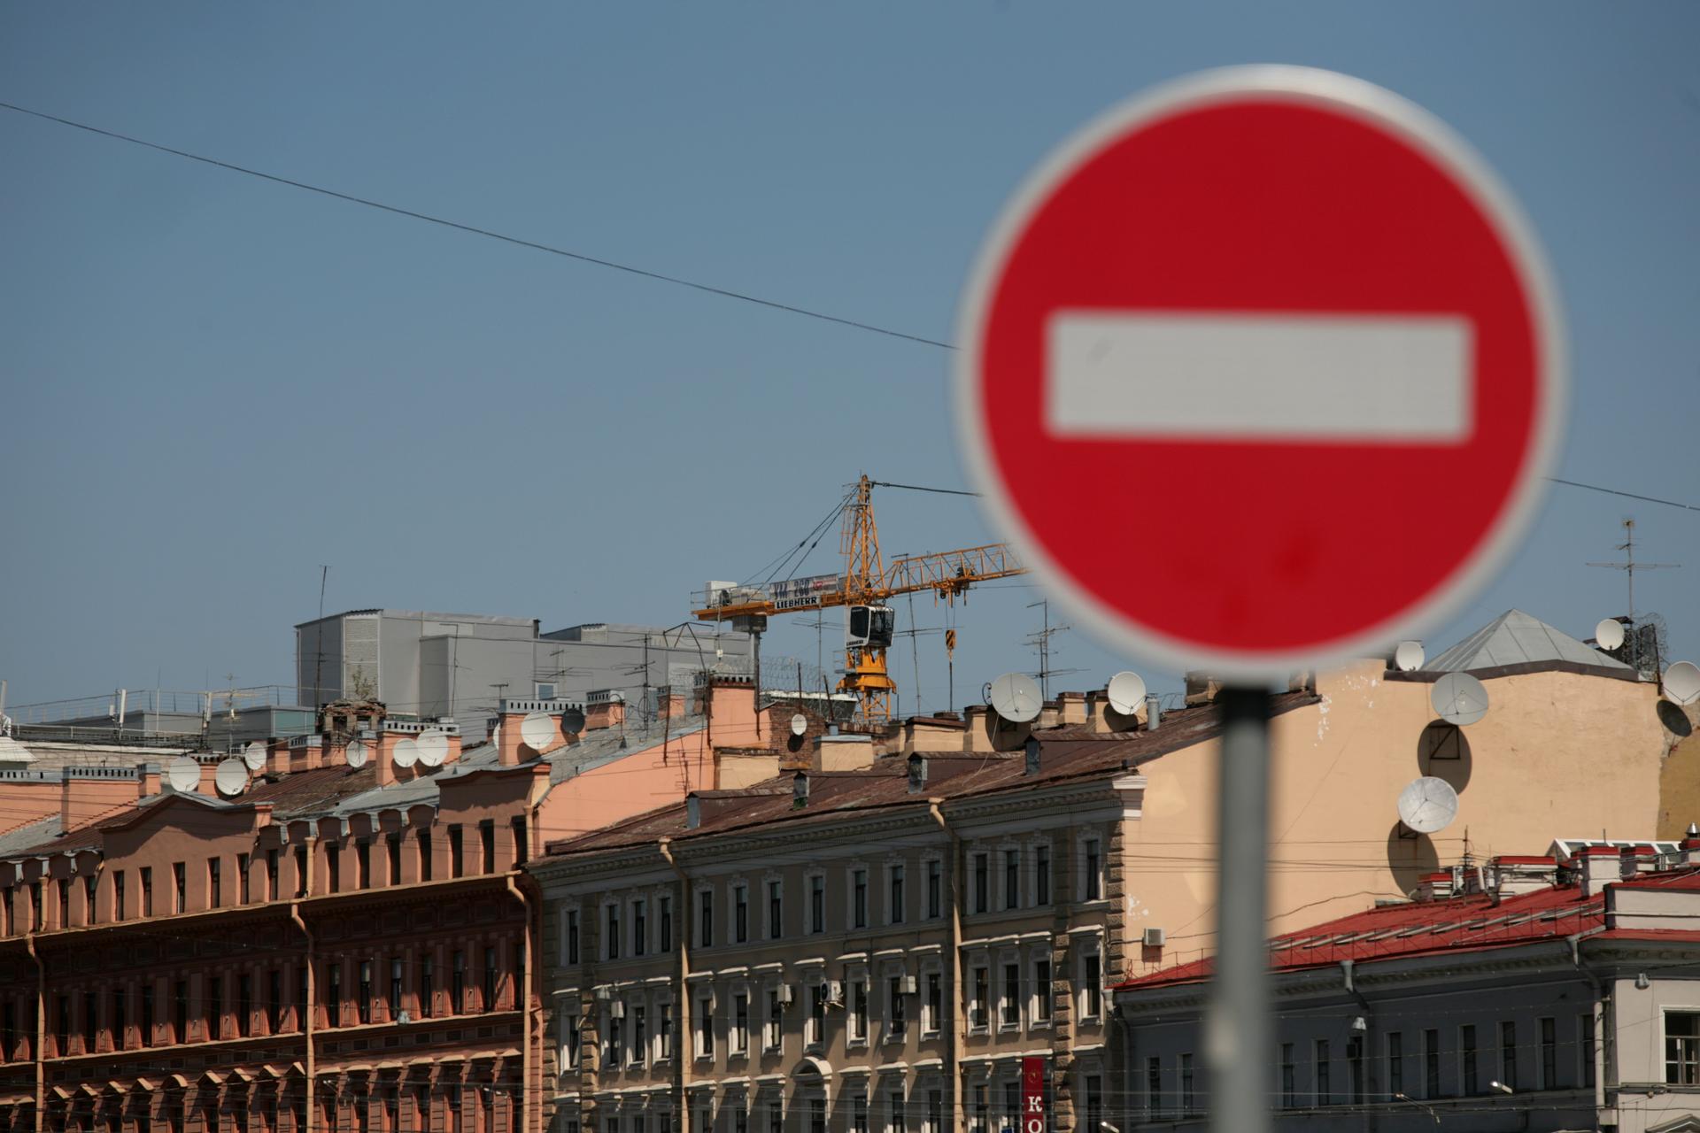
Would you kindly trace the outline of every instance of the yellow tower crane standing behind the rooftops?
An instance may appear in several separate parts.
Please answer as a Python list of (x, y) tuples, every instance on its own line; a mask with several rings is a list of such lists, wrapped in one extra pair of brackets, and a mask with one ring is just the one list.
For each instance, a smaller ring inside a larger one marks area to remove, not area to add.
[[(845, 674), (838, 691), (860, 700), (858, 719), (882, 724), (891, 719), (891, 695), (898, 683), (886, 668), (886, 651), (896, 632), (896, 618), (886, 605), (896, 595), (933, 591), (933, 600), (955, 603), (974, 583), (1025, 574), (1015, 550), (1006, 544), (903, 555), (886, 566), (879, 554), (879, 527), (874, 523), (874, 488), (879, 481), (862, 476), (845, 501), (838, 550), (842, 574), (813, 574), (779, 583), (741, 586), (709, 583), (699, 622), (731, 622), (734, 629), (755, 634), (756, 676), (760, 679), (762, 632), (774, 613), (826, 610), (845, 606)], [(954, 645), (954, 634), (950, 635)]]

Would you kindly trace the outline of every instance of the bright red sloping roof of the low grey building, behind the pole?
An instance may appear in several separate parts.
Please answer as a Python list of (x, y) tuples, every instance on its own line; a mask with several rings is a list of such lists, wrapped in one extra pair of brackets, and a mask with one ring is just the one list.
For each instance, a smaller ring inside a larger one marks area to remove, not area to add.
[[(1695, 883), (1700, 887), (1700, 880)], [(1341, 960), (1392, 960), (1508, 948), (1572, 936), (1605, 924), (1605, 899), (1579, 888), (1544, 888), (1494, 902), (1486, 893), (1399, 902), (1355, 912), (1270, 941), (1270, 968), (1328, 968)], [(1210, 960), (1195, 960), (1119, 987), (1144, 989), (1209, 978)]]

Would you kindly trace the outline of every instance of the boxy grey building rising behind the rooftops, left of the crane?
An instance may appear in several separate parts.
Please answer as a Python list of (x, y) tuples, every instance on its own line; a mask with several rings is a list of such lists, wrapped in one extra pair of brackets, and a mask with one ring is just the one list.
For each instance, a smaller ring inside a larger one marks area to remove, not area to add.
[(371, 695), (391, 712), (473, 722), (502, 698), (583, 700), (683, 685), (699, 669), (746, 673), (748, 634), (586, 623), (544, 634), (536, 618), (348, 610), (296, 627), (303, 705)]

